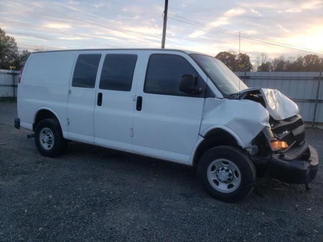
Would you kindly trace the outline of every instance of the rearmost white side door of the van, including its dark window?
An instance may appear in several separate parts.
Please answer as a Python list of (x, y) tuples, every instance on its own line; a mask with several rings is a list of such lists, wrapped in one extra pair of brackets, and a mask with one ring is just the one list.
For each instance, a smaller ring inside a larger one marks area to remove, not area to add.
[(100, 59), (101, 53), (95, 52), (77, 57), (69, 89), (68, 138), (94, 143), (95, 83)]

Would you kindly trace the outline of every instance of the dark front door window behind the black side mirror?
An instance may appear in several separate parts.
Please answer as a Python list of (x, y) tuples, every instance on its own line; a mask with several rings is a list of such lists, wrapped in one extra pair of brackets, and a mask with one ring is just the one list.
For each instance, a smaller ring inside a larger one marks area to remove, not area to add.
[(175, 54), (152, 54), (149, 57), (144, 92), (193, 96), (180, 91), (180, 82), (184, 74), (198, 76), (184, 57)]

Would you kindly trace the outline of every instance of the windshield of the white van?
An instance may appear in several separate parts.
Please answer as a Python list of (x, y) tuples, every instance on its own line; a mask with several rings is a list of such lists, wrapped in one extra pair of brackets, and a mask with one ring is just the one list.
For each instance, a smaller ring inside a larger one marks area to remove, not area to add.
[(233, 95), (247, 89), (244, 84), (226, 65), (219, 59), (203, 54), (190, 54), (194, 61), (203, 69), (205, 74), (211, 79), (222, 93), (225, 95)]

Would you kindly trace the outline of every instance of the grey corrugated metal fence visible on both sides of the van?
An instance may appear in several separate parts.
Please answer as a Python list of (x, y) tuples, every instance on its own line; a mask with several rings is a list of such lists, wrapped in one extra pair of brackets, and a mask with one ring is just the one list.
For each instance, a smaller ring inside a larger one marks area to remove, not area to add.
[[(239, 73), (236, 73), (239, 76)], [(19, 71), (0, 70), (0, 97), (16, 97)], [(240, 72), (249, 87), (280, 90), (295, 101), (303, 120), (323, 125), (321, 72)]]

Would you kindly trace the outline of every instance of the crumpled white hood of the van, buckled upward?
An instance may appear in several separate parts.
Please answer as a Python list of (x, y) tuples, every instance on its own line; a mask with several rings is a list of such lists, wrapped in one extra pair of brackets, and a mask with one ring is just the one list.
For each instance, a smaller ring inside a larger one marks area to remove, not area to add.
[(243, 99), (248, 93), (255, 91), (260, 92), (267, 111), (276, 120), (283, 120), (299, 112), (297, 104), (276, 89), (248, 88), (240, 92), (240, 97)]

